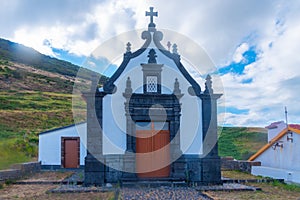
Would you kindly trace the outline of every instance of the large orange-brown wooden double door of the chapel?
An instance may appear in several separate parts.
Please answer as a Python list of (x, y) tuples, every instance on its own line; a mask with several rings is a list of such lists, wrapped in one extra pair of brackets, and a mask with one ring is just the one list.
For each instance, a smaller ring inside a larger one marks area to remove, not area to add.
[(139, 178), (170, 176), (168, 122), (136, 123), (136, 170)]

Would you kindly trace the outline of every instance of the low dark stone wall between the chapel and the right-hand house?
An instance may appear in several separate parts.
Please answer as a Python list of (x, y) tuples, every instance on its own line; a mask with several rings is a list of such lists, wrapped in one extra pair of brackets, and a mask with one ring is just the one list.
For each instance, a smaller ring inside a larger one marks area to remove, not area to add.
[(234, 160), (233, 157), (224, 157), (221, 159), (222, 170), (239, 170), (251, 173), (252, 166), (261, 166), (260, 162), (247, 160)]

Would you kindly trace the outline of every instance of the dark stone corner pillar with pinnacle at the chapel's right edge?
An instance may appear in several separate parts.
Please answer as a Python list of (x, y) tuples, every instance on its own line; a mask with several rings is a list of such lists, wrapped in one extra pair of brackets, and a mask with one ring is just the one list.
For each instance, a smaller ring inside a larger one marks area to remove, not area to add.
[(203, 155), (202, 182), (221, 184), (221, 159), (218, 155), (217, 99), (221, 94), (214, 94), (211, 77), (208, 75), (202, 100)]

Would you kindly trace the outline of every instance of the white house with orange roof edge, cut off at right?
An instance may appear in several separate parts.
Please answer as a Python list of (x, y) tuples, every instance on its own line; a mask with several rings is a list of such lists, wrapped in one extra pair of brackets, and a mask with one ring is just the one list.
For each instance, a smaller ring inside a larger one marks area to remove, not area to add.
[(253, 166), (251, 173), (300, 183), (300, 125), (280, 121), (266, 128), (268, 143), (249, 158), (261, 166)]

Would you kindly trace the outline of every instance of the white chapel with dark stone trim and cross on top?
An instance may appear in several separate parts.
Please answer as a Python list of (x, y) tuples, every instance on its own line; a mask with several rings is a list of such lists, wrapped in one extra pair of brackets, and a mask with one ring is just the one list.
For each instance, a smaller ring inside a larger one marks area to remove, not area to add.
[[(203, 88), (181, 62), (180, 48), (161, 41), (157, 12), (141, 34), (144, 44), (126, 44), (114, 74), (98, 87), (92, 78), (87, 102), (84, 184), (167, 180), (221, 184), (217, 144), (217, 99), (212, 78)], [(124, 44), (125, 46), (125, 44)], [(172, 47), (172, 48), (171, 48)], [(203, 76), (203, 75), (202, 75)]]

